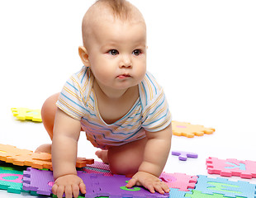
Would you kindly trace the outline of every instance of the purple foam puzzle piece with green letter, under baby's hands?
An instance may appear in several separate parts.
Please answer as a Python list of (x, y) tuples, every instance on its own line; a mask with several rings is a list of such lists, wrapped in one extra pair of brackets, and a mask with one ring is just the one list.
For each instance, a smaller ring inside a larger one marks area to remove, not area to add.
[[(102, 174), (91, 174), (78, 171), (78, 177), (83, 179), (87, 186), (85, 197), (109, 196), (109, 197), (168, 197), (168, 193), (161, 195), (159, 193), (151, 194), (143, 187), (126, 188), (126, 181), (130, 177), (114, 175), (106, 177)], [(38, 194), (50, 196), (51, 187), (54, 181), (52, 172), (37, 170), (31, 167), (24, 172), (23, 189), (26, 191), (36, 191)]]

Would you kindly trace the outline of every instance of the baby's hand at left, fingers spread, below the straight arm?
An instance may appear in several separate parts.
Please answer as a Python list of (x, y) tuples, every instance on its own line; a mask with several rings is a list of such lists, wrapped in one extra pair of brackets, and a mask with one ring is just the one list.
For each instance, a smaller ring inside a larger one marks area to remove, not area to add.
[(85, 185), (83, 180), (77, 175), (65, 175), (55, 180), (55, 184), (52, 187), (52, 192), (57, 195), (58, 198), (62, 198), (65, 193), (66, 198), (77, 198), (79, 190), (85, 194)]

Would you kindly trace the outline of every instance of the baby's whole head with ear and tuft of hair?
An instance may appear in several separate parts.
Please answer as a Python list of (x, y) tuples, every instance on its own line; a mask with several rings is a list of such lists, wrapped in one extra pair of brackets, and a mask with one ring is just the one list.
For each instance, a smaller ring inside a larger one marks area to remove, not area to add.
[(82, 33), (79, 55), (99, 85), (122, 89), (144, 78), (145, 20), (130, 2), (98, 0), (83, 16)]

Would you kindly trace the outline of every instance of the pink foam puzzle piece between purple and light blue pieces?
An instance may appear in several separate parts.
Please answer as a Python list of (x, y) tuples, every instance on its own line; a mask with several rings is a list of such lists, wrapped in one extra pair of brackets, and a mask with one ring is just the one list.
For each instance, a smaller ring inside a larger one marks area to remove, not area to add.
[(162, 172), (159, 177), (167, 182), (168, 187), (178, 188), (179, 191), (189, 191), (188, 188), (194, 189), (197, 183), (197, 176), (189, 176), (185, 173), (166, 173)]

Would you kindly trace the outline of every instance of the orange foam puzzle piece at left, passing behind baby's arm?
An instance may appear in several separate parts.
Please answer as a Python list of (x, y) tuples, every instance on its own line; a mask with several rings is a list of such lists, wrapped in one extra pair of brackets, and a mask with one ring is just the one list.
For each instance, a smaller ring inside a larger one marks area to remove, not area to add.
[[(0, 144), (0, 160), (18, 166), (47, 168), (52, 170), (50, 153), (34, 153), (33, 151), (16, 148), (15, 146)], [(94, 163), (94, 159), (78, 158), (77, 167), (85, 167)]]

